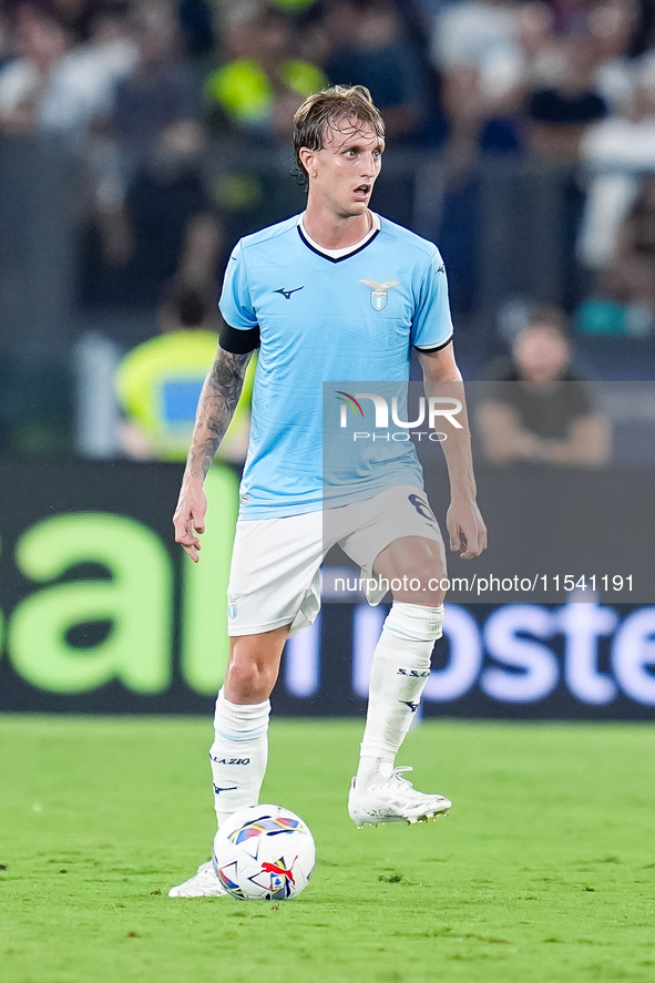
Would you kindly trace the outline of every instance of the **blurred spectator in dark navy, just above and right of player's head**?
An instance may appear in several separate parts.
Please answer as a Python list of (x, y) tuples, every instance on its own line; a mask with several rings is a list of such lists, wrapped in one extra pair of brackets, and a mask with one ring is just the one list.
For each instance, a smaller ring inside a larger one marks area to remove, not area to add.
[(385, 115), (387, 141), (419, 137), (428, 82), (390, 0), (340, 0), (329, 14), (331, 84), (366, 85)]

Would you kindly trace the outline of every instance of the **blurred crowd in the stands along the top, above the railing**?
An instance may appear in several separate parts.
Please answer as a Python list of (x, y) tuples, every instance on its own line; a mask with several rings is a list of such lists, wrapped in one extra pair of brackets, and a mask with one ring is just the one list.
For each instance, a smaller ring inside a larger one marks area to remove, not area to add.
[(648, 0), (4, 0), (0, 125), (133, 157), (181, 122), (286, 141), (308, 93), (357, 82), (392, 142), (651, 162), (654, 31)]

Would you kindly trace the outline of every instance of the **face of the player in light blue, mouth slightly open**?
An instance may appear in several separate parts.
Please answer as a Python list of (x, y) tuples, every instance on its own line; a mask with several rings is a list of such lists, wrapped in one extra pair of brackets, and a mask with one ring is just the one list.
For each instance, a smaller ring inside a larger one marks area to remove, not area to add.
[(309, 194), (340, 218), (362, 215), (380, 173), (385, 142), (370, 123), (344, 120), (326, 127), (309, 160)]

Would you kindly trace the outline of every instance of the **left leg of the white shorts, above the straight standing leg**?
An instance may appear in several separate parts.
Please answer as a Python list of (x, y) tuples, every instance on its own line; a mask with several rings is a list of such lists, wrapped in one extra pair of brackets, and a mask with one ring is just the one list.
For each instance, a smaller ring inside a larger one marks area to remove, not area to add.
[(260, 635), (284, 625), (295, 634), (320, 608), (320, 512), (239, 520), (227, 588), (227, 632)]

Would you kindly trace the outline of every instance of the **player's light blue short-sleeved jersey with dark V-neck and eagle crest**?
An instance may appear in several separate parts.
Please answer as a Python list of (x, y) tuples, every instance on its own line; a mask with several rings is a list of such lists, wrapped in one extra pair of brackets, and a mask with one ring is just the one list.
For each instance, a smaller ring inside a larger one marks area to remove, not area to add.
[[(412, 346), (439, 348), (452, 335), (439, 250), (386, 218), (338, 259), (307, 242), (298, 216), (246, 236), (228, 260), (219, 307), (233, 328), (258, 327), (260, 336), (242, 519), (323, 506), (324, 383), (405, 383)], [(326, 399), (332, 431), (342, 405)], [(382, 443), (346, 455), (339, 504), (399, 483), (422, 487), (413, 447)]]

